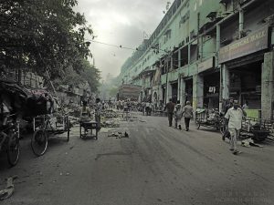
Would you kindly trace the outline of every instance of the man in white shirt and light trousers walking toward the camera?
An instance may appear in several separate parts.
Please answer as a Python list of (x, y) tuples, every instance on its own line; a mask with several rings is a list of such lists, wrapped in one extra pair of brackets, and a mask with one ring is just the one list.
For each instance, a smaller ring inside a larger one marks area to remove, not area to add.
[(237, 100), (234, 100), (232, 108), (227, 110), (225, 118), (228, 120), (228, 131), (230, 133), (230, 150), (233, 151), (233, 154), (237, 155), (240, 151), (237, 150), (237, 138), (242, 127), (242, 118), (246, 116), (247, 113), (242, 110)]

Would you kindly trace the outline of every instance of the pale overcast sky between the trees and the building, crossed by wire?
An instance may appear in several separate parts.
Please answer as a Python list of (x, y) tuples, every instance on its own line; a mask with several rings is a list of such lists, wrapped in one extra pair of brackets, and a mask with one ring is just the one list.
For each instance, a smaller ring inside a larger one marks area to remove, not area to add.
[[(142, 43), (144, 32), (151, 35), (163, 18), (168, 0), (79, 0), (77, 11), (92, 26), (94, 40), (135, 48)], [(169, 2), (173, 3), (173, 0)], [(120, 74), (121, 65), (132, 50), (92, 43), (90, 50), (102, 77)], [(92, 60), (91, 60), (92, 63)]]

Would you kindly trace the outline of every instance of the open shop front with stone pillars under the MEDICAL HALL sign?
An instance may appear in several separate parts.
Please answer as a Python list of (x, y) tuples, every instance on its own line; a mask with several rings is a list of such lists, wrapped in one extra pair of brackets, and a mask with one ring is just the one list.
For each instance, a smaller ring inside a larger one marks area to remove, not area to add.
[[(221, 86), (224, 87), (222, 97), (234, 97), (241, 106), (247, 104), (249, 117), (272, 118), (268, 114), (273, 111), (273, 92), (269, 93), (269, 89), (273, 90), (273, 61), (267, 55), (269, 42), (269, 27), (263, 27), (221, 47), (219, 52)], [(272, 83), (264, 86), (266, 81)]]

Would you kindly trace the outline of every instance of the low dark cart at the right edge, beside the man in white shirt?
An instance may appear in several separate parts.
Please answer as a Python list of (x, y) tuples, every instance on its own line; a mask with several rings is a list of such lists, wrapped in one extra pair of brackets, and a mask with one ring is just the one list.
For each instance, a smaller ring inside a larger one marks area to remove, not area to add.
[(273, 121), (270, 120), (248, 117), (242, 120), (240, 135), (261, 142), (270, 136), (273, 124)]

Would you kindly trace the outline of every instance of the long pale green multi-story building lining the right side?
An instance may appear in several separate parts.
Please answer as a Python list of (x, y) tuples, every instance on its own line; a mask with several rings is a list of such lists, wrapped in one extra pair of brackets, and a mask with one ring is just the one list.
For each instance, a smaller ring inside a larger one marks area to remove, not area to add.
[(273, 118), (274, 1), (175, 0), (121, 68), (140, 98), (223, 108), (235, 97)]

